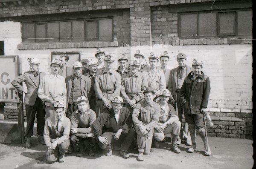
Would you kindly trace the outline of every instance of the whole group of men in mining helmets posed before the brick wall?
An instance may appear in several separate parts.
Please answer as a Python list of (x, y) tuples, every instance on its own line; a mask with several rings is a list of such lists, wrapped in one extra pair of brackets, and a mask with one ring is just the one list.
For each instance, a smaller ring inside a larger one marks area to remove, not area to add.
[(172, 134), (173, 152), (180, 153), (177, 144), (183, 139), (191, 146), (188, 152), (194, 152), (196, 130), (204, 141), (205, 155), (211, 155), (203, 114), (210, 83), (201, 62), (193, 60), (192, 67), (187, 66), (186, 55), (179, 53), (178, 67), (170, 70), (166, 51), (160, 57), (151, 52), (148, 66), (137, 50), (130, 61), (122, 54), (114, 70), (112, 55), (97, 48), (95, 57), (76, 61), (69, 68), (68, 55), (61, 54), (50, 63), (48, 75), (39, 70), (38, 58), (28, 59), (30, 71), (12, 81), (25, 93), (26, 148), (31, 147), (36, 116), (38, 142), (47, 146), (48, 163), (63, 162), (65, 153), (73, 151), (81, 157), (86, 148), (93, 156), (96, 143), (107, 156), (119, 145), (120, 155), (129, 158), (134, 142), (137, 160), (142, 161), (151, 145), (159, 148), (167, 134)]

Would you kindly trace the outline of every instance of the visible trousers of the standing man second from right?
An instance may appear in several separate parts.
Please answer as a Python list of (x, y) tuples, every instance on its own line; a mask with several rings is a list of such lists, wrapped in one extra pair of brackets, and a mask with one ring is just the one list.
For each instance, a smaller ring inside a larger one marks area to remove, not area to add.
[[(178, 109), (178, 117), (180, 120), (180, 123), (182, 123), (182, 115), (183, 115), (183, 106), (182, 106), (182, 101), (181, 101), (181, 97), (180, 97), (180, 92), (177, 89), (177, 109)], [(181, 125), (180, 127), (180, 140), (182, 140), (182, 138), (184, 137), (184, 140), (186, 143), (191, 143), (191, 138), (190, 138), (190, 133), (189, 133), (189, 125), (188, 123), (184, 123), (184, 128)]]

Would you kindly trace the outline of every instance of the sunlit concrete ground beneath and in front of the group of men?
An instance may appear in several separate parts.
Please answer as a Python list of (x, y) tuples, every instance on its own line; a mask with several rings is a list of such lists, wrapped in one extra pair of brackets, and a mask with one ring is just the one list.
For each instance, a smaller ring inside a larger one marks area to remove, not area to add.
[[(167, 139), (168, 141), (169, 139)], [(123, 159), (117, 151), (111, 157), (104, 151), (95, 157), (87, 154), (76, 157), (75, 153), (66, 156), (64, 163), (45, 163), (44, 145), (32, 139), (31, 149), (22, 144), (0, 144), (0, 169), (251, 169), (253, 167), (252, 140), (209, 137), (211, 156), (204, 156), (203, 142), (197, 137), (197, 150), (186, 152), (189, 146), (178, 145), (180, 154), (171, 152), (170, 143), (161, 143), (160, 149), (152, 148), (150, 155), (144, 155), (144, 161), (136, 160), (137, 150), (132, 149), (129, 159)]]

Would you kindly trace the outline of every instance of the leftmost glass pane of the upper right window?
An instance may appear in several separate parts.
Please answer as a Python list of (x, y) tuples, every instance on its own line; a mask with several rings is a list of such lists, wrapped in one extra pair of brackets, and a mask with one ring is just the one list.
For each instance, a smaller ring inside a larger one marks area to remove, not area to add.
[(197, 34), (198, 14), (180, 14), (180, 36), (191, 37)]

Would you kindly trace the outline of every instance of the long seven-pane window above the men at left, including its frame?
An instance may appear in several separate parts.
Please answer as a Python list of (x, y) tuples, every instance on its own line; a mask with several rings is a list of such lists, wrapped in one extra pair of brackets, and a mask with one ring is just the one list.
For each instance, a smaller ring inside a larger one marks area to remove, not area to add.
[(22, 23), (23, 42), (113, 40), (113, 19)]

